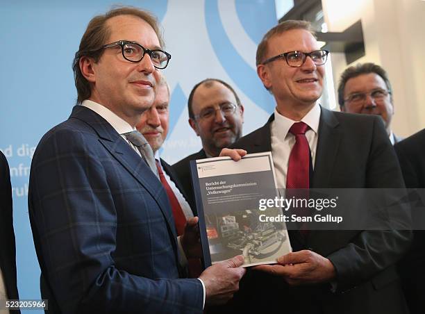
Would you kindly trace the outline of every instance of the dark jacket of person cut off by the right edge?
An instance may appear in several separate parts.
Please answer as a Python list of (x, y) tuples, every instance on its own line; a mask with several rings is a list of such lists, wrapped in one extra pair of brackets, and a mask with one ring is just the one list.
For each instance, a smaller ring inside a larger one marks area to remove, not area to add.
[(410, 313), (419, 314), (424, 313), (425, 308), (425, 129), (395, 144), (394, 149), (406, 188), (412, 195), (411, 204), (415, 206), (412, 221), (417, 223), (412, 247), (399, 263), (399, 272)]

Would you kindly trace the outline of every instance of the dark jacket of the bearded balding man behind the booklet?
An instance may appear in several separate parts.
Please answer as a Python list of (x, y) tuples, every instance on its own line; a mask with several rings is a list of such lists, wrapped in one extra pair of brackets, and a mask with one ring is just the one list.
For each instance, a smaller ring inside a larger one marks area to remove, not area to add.
[(192, 176), (190, 175), (190, 160), (197, 160), (197, 159), (203, 159), (207, 158), (205, 151), (201, 149), (195, 154), (192, 154), (186, 158), (183, 158), (182, 160), (178, 161), (174, 165), (172, 165), (172, 168), (177, 176), (178, 181), (181, 182), (181, 186), (183, 190), (185, 191), (183, 195), (185, 195), (186, 199), (188, 200), (188, 203), (190, 205), (190, 208), (192, 208), (194, 215), (197, 215), (197, 206), (196, 201), (194, 199), (194, 192), (192, 188)]

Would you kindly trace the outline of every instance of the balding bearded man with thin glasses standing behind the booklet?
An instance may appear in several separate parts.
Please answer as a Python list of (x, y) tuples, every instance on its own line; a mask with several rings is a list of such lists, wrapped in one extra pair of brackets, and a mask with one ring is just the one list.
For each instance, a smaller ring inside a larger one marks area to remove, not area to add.
[(242, 136), (244, 106), (228, 83), (206, 78), (192, 88), (188, 99), (189, 124), (201, 138), (202, 149), (173, 165), (192, 208), (195, 208), (190, 160), (217, 157)]

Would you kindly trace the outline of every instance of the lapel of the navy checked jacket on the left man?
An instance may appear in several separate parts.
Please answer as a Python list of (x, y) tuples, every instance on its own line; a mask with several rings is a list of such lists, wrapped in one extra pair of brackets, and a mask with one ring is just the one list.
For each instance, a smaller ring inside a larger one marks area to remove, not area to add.
[(83, 106), (75, 106), (70, 118), (80, 119), (87, 123), (99, 135), (99, 142), (103, 144), (110, 154), (149, 192), (156, 200), (167, 222), (172, 243), (176, 249), (176, 231), (172, 218), (168, 198), (155, 174), (144, 163), (134, 149), (113, 129), (113, 127), (100, 115)]

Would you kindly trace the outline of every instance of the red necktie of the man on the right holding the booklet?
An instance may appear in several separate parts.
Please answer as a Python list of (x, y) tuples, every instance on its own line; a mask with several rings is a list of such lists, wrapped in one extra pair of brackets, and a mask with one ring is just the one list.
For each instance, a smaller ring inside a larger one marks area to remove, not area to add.
[(295, 135), (286, 174), (287, 189), (308, 189), (310, 186), (310, 148), (306, 138), (309, 129), (304, 122), (292, 124), (290, 133)]

